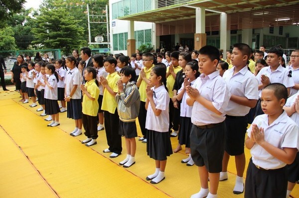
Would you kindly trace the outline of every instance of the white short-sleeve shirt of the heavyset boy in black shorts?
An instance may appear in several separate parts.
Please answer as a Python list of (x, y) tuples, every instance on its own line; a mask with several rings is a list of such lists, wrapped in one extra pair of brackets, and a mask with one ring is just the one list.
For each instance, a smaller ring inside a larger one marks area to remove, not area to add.
[(231, 93), (219, 71), (205, 76), (203, 73), (196, 78), (192, 87), (196, 88), (200, 95), (212, 102), (213, 106), (222, 114), (218, 115), (195, 101), (192, 108), (191, 122), (202, 126), (221, 123), (225, 120), (225, 108), (228, 105)]

